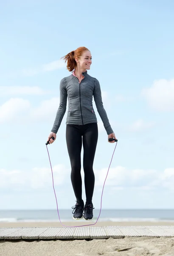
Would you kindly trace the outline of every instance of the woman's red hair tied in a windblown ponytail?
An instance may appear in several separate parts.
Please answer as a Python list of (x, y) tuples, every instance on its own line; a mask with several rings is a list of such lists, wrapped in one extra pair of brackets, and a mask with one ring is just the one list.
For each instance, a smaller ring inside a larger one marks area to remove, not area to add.
[[(67, 61), (67, 70), (73, 71), (77, 67), (77, 62), (75, 58), (80, 58), (80, 56), (85, 52), (89, 51), (86, 47), (79, 47), (75, 51), (69, 52), (67, 55), (62, 58)], [(61, 59), (62, 59), (61, 58)]]

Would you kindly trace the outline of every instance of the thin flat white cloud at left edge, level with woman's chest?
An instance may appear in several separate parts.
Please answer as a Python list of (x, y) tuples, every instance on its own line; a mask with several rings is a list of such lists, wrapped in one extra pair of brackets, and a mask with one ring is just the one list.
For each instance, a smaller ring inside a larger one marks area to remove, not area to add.
[(51, 93), (37, 86), (0, 86), (0, 97), (16, 95), (44, 95)]

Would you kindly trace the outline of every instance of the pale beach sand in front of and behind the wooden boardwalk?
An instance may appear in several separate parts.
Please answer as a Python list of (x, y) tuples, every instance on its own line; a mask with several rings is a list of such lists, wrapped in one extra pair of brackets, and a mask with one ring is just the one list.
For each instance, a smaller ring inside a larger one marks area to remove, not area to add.
[[(66, 223), (87, 224), (73, 221)], [(174, 225), (170, 222), (98, 222), (98, 226)], [(59, 222), (0, 223), (0, 227), (61, 227)], [(125, 237), (123, 239), (71, 239), (50, 241), (0, 240), (0, 256), (174, 256), (174, 237)]]

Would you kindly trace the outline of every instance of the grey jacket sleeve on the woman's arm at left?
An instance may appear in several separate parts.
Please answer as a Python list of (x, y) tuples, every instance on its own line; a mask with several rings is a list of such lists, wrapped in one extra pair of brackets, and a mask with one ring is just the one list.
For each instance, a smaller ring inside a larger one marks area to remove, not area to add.
[(56, 113), (56, 119), (53, 124), (52, 132), (57, 133), (59, 130), (62, 119), (65, 115), (67, 107), (67, 90), (65, 78), (60, 81), (60, 104)]

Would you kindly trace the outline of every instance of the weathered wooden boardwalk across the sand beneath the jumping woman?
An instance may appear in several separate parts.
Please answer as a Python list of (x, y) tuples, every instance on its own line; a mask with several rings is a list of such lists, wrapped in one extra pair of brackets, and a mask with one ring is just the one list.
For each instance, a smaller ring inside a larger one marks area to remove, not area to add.
[(1, 227), (1, 240), (107, 239), (125, 236), (174, 236), (174, 226)]

